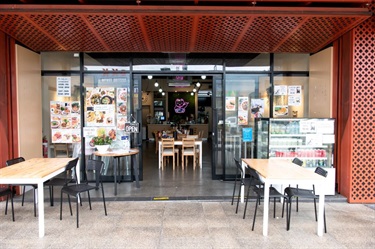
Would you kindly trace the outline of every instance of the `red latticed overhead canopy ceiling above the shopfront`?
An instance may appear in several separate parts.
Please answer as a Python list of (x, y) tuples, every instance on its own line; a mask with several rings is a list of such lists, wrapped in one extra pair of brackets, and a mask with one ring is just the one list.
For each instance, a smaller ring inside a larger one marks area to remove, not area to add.
[(36, 52), (313, 53), (371, 16), (368, 0), (4, 2), (0, 30)]

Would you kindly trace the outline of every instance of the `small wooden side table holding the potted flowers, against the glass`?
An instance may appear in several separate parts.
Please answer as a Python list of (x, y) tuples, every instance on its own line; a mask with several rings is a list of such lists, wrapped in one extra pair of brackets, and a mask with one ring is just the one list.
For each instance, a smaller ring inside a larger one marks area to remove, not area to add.
[[(138, 172), (138, 165), (135, 160), (135, 155), (139, 153), (139, 150), (136, 148), (131, 148), (130, 150), (123, 150), (123, 149), (117, 149), (117, 150), (109, 150), (104, 153), (100, 153), (99, 151), (95, 151), (94, 155), (95, 156), (109, 156), (113, 157), (115, 160), (115, 165), (113, 165), (113, 175), (114, 175), (114, 191), (115, 195), (117, 195), (117, 168), (120, 164), (120, 157), (125, 157), (125, 156), (131, 156), (133, 158), (133, 169), (134, 169), (134, 177), (136, 181), (136, 186), (137, 188), (140, 187), (139, 185), (139, 172)], [(116, 160), (117, 159), (117, 160)]]

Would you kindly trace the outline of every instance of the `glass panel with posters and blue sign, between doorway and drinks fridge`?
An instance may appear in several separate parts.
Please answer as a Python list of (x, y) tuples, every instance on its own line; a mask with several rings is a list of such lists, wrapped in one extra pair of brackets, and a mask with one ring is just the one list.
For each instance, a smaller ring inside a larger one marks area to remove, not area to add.
[(226, 74), (223, 125), (225, 179), (235, 176), (233, 158), (254, 157), (254, 120), (269, 117), (270, 89), (268, 74)]

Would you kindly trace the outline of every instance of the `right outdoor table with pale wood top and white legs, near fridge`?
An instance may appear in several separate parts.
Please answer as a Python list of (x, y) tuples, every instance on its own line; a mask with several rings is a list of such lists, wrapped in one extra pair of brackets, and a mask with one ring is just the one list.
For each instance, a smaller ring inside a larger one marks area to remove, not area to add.
[[(269, 187), (271, 184), (320, 184), (326, 178), (308, 169), (298, 166), (291, 161), (283, 159), (242, 159), (242, 168), (255, 169), (264, 181), (264, 212), (263, 212), (263, 235), (268, 234), (268, 211)], [(244, 198), (244, 191), (241, 191), (241, 201)], [(319, 193), (319, 213), (317, 234), (323, 236), (323, 213), (324, 213), (324, 193)]]

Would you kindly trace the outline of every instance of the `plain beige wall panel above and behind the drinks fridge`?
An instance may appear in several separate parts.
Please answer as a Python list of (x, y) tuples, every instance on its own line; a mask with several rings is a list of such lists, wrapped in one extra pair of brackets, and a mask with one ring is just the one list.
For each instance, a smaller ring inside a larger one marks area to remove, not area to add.
[(332, 118), (333, 48), (310, 56), (309, 117)]

